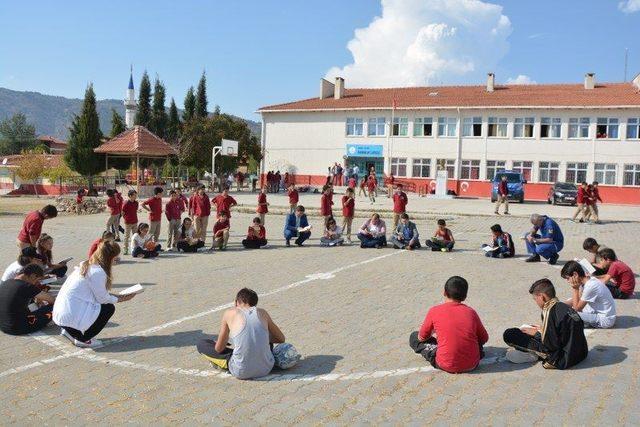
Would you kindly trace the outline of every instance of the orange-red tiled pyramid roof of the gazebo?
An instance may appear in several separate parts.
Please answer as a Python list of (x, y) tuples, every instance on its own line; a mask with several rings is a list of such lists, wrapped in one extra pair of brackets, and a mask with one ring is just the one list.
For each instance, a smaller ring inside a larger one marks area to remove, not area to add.
[(138, 154), (141, 156), (169, 156), (178, 154), (177, 150), (169, 145), (168, 142), (144, 126), (134, 126), (111, 138), (93, 151), (104, 154)]

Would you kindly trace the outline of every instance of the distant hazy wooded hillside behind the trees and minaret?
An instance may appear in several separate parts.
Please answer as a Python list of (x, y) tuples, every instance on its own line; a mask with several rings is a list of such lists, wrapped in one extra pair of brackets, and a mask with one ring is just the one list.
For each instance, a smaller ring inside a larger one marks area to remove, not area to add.
[[(20, 92), (0, 88), (0, 120), (15, 113), (24, 113), (27, 120), (36, 127), (38, 135), (52, 135), (66, 140), (73, 115), (80, 112), (81, 99), (43, 95), (38, 92)], [(124, 105), (119, 99), (102, 99), (97, 104), (102, 132), (111, 130), (111, 109), (115, 108), (124, 117)], [(260, 123), (244, 120), (256, 136), (260, 136)]]

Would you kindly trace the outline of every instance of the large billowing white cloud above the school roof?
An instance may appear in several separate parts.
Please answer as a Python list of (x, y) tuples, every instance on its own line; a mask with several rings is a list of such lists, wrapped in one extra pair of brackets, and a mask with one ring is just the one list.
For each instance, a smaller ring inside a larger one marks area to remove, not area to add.
[(480, 0), (382, 0), (382, 16), (347, 44), (353, 62), (326, 77), (347, 87), (484, 82), (510, 34), (502, 7)]

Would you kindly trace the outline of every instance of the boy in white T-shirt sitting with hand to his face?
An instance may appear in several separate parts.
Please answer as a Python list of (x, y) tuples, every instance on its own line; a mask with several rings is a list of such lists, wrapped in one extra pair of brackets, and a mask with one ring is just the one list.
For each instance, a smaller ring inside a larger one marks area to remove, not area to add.
[(616, 323), (616, 303), (604, 283), (595, 277), (588, 277), (576, 261), (566, 263), (560, 276), (571, 286), (572, 296), (567, 304), (578, 312), (585, 326), (613, 327)]

